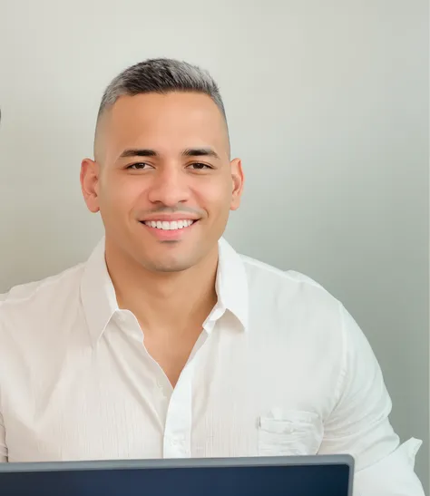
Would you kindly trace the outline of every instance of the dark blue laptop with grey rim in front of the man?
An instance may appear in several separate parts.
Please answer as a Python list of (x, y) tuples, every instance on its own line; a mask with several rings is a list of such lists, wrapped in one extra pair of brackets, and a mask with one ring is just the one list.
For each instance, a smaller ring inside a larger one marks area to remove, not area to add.
[(352, 496), (348, 455), (0, 463), (2, 496)]

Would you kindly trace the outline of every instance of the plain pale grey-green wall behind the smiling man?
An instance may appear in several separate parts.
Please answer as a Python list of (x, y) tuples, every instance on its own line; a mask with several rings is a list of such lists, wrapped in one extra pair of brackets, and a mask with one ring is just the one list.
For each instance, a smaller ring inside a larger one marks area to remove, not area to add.
[(428, 5), (0, 0), (0, 292), (86, 258), (102, 92), (152, 56), (220, 83), (246, 194), (227, 238), (304, 272), (363, 328), (428, 491)]

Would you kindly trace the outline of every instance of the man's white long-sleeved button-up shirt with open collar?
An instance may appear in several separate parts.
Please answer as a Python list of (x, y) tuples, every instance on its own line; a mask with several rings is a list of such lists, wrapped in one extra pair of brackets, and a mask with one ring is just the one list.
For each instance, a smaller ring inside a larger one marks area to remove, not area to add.
[[(117, 306), (104, 241), (0, 301), (0, 460), (349, 453), (355, 495), (422, 496), (381, 370), (317, 283), (221, 238), (218, 303), (171, 388)], [(1, 492), (1, 488), (0, 488)]]

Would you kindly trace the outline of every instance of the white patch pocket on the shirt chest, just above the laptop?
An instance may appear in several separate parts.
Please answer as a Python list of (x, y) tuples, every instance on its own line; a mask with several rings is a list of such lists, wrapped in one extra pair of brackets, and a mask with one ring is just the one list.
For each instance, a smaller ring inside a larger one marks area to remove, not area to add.
[(317, 454), (324, 427), (317, 413), (277, 411), (259, 417), (260, 456)]

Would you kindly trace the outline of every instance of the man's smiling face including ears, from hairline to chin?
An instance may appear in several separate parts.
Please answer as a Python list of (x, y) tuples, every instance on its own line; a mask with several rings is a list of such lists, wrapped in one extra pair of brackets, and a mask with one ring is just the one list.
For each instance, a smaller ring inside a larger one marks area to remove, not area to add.
[(122, 96), (99, 128), (96, 161), (83, 160), (81, 182), (112, 252), (173, 272), (216, 250), (230, 209), (239, 208), (243, 176), (210, 97)]

